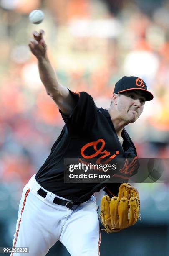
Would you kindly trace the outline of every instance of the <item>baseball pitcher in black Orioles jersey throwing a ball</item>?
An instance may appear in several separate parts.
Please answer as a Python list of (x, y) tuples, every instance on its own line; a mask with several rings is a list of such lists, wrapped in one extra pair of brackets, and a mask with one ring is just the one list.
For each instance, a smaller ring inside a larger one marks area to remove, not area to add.
[(112, 233), (138, 220), (139, 192), (127, 183), (130, 172), (119, 174), (121, 183), (66, 184), (64, 159), (106, 156), (135, 161), (136, 148), (124, 127), (139, 118), (153, 95), (141, 78), (123, 77), (115, 85), (108, 110), (97, 108), (87, 92), (72, 92), (58, 82), (43, 34), (35, 31), (29, 47), (65, 125), (45, 163), (23, 188), (13, 248), (29, 247), (30, 256), (44, 256), (59, 240), (72, 256), (98, 256), (101, 236), (93, 193), (104, 187), (101, 223)]

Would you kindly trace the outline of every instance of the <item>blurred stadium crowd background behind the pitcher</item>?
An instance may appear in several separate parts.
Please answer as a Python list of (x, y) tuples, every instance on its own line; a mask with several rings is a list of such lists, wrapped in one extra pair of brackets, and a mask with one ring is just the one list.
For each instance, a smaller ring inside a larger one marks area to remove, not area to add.
[[(40, 25), (28, 20), (34, 9), (45, 13)], [(122, 76), (143, 78), (154, 100), (127, 130), (140, 158), (168, 158), (169, 2), (0, 0), (0, 17), (0, 247), (5, 247), (13, 240), (23, 186), (43, 164), (64, 125), (28, 49), (32, 32), (45, 30), (48, 56), (60, 82), (88, 92), (98, 107), (108, 108)], [(169, 255), (169, 186), (136, 187), (142, 223), (112, 235), (102, 232), (102, 256)], [(48, 255), (68, 253), (58, 242)]]

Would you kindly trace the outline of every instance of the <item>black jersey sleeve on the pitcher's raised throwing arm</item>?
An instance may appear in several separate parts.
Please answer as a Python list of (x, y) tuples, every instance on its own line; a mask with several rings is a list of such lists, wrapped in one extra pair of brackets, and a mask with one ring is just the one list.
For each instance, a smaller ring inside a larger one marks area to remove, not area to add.
[[(69, 90), (70, 91), (70, 90)], [(71, 134), (87, 133), (93, 128), (96, 117), (97, 107), (91, 95), (86, 92), (72, 92), (70, 93), (76, 98), (77, 103), (71, 115), (64, 115), (61, 110), (62, 118)]]

